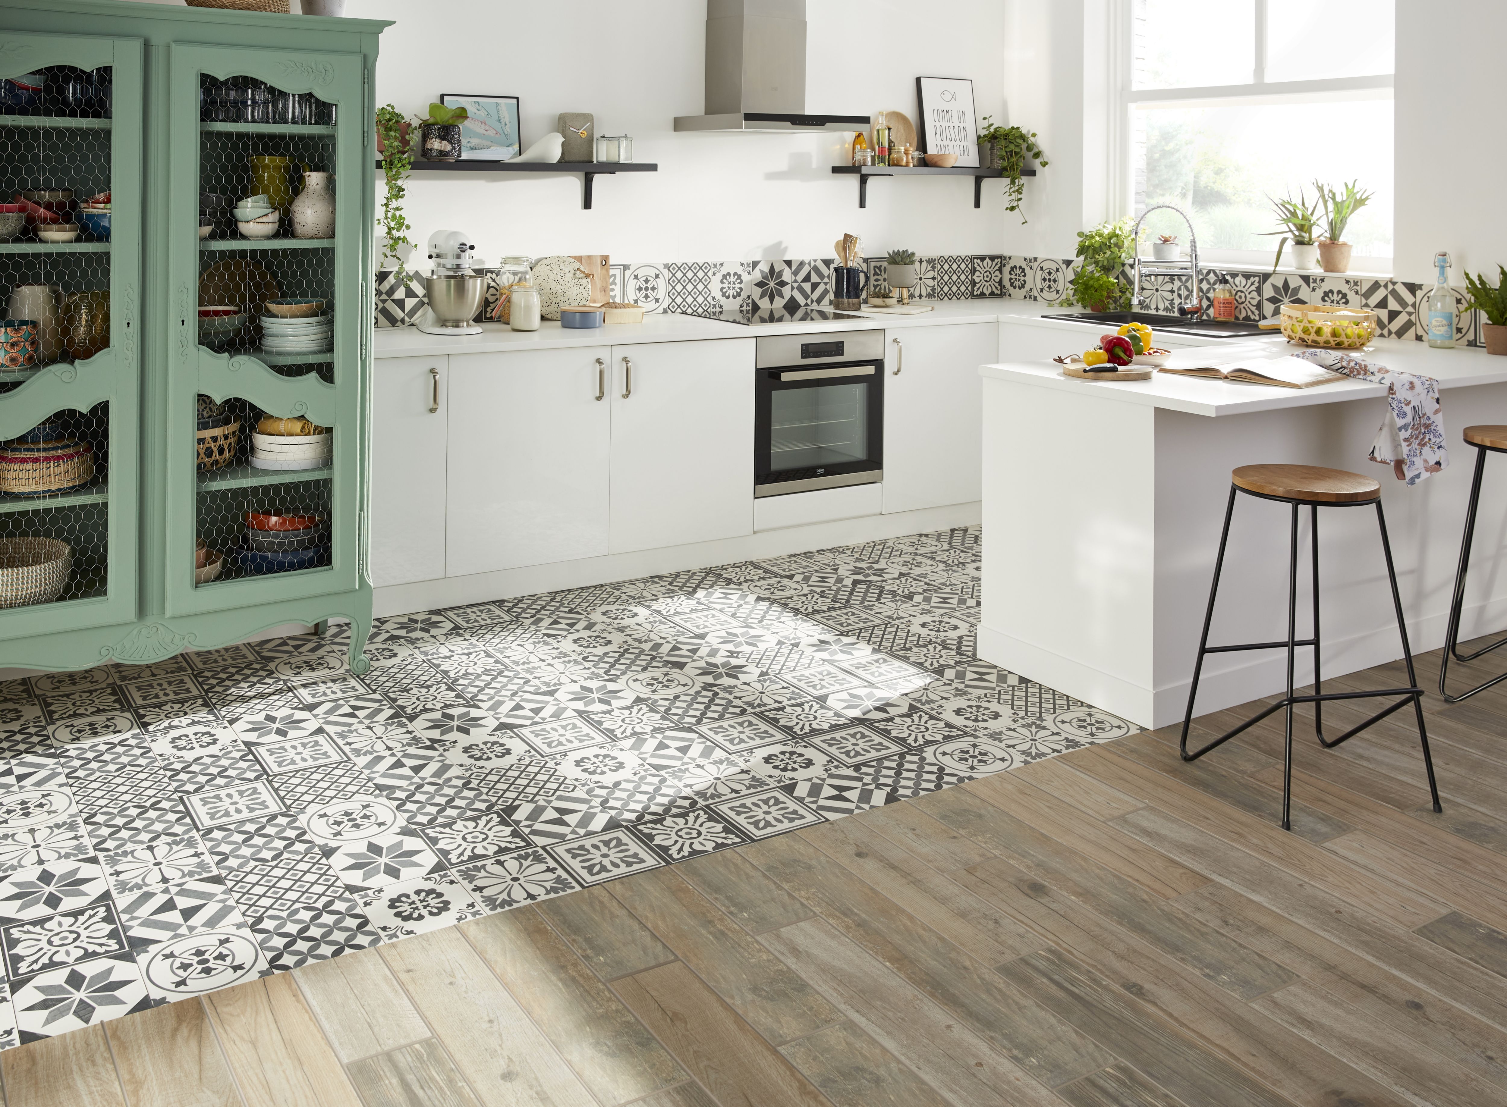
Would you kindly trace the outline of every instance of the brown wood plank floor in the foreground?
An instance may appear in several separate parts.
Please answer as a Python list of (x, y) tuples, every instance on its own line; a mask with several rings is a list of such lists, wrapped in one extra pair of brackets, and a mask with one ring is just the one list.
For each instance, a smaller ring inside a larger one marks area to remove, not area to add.
[(1427, 715), (1442, 815), (1411, 712), (1299, 726), (1295, 833), (1279, 717), (1133, 735), (24, 1045), (6, 1102), (1507, 1104), (1507, 685)]

